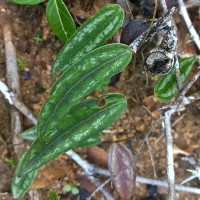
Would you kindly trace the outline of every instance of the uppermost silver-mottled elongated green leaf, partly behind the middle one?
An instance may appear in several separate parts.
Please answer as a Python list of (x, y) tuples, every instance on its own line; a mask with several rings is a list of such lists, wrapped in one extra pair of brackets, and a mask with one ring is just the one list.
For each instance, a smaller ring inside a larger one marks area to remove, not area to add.
[(120, 28), (124, 12), (117, 4), (98, 10), (85, 21), (60, 50), (53, 67), (53, 77), (63, 72), (93, 49), (103, 45)]

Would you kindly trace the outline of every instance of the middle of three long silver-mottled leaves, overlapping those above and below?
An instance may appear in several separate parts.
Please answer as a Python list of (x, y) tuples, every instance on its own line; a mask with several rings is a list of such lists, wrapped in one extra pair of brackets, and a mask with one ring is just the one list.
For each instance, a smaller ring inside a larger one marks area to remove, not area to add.
[(95, 49), (71, 65), (54, 83), (41, 108), (37, 135), (48, 140), (54, 126), (63, 120), (71, 106), (95, 90), (105, 80), (122, 71), (131, 61), (132, 52), (123, 44), (110, 44)]

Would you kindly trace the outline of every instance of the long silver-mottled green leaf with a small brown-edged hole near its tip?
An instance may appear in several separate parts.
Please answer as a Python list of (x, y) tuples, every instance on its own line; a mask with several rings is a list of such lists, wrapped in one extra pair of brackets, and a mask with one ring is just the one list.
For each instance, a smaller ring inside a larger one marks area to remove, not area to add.
[[(101, 100), (104, 100), (105, 105), (100, 107), (98, 103)], [(48, 136), (46, 144), (39, 138), (33, 142), (18, 176), (21, 177), (36, 170), (74, 147), (82, 147), (83, 141), (94, 137), (111, 125), (126, 107), (126, 99), (121, 94), (108, 94), (100, 99), (88, 99), (73, 106), (50, 137)]]

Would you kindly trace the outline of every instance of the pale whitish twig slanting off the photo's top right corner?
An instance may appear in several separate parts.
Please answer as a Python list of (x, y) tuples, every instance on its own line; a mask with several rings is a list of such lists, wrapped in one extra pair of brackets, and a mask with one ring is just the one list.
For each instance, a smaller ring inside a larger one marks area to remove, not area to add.
[(199, 35), (197, 34), (194, 26), (192, 25), (192, 22), (190, 20), (190, 17), (188, 15), (188, 12), (186, 10), (185, 4), (183, 2), (183, 0), (178, 0), (178, 4), (179, 4), (179, 10), (180, 13), (185, 21), (185, 24), (190, 32), (191, 38), (192, 40), (195, 42), (195, 44), (197, 45), (198, 49), (200, 50), (200, 39), (199, 39)]

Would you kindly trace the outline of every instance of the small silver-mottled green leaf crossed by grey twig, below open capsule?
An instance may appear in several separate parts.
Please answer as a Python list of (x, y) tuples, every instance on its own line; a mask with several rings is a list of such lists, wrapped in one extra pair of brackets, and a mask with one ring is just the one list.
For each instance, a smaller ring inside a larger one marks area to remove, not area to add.
[[(185, 81), (195, 63), (196, 57), (191, 56), (179, 60), (180, 73), (182, 80)], [(178, 94), (178, 85), (176, 81), (175, 67), (167, 75), (161, 76), (154, 88), (154, 94), (163, 102), (169, 102), (173, 97)]]

